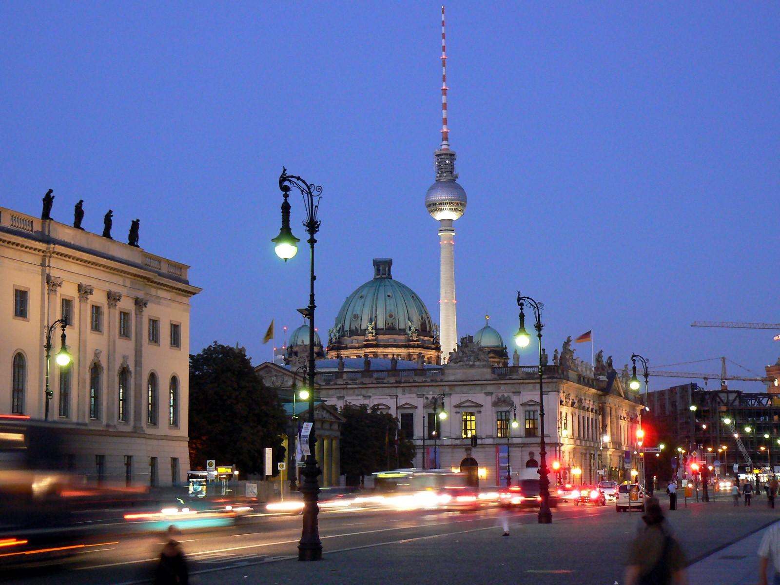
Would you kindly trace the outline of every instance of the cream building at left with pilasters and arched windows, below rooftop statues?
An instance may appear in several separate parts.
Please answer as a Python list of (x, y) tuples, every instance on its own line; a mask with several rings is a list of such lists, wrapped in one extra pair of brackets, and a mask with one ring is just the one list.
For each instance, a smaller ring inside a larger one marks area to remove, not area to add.
[(188, 268), (0, 207), (0, 413), (44, 419), (44, 330), (63, 319), (73, 362), (61, 370), (52, 356), (48, 420), (67, 427), (65, 465), (123, 483), (183, 481), (190, 299), (200, 292)]

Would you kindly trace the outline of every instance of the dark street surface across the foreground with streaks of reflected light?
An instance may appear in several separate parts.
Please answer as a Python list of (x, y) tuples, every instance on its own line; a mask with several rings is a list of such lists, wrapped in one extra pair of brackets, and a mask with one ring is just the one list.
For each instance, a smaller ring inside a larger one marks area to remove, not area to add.
[[(300, 516), (257, 516), (236, 527), (186, 532), (181, 537), (196, 583), (608, 583), (622, 581), (640, 513), (562, 505), (551, 525), (534, 511), (509, 512), (502, 537), (501, 510), (477, 512), (322, 512), (322, 562), (295, 560)], [(668, 517), (690, 562), (780, 518), (780, 509), (732, 508), (728, 502), (691, 504)], [(57, 569), (8, 573), (4, 583), (146, 583), (164, 542), (159, 534), (122, 536), (82, 551)], [(384, 576), (385, 578), (381, 578)]]

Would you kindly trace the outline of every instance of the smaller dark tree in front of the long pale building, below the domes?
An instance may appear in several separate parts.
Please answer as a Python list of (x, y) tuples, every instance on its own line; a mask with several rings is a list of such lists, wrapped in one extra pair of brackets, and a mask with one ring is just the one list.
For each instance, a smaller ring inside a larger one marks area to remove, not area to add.
[[(363, 484), (363, 477), (382, 471), (409, 467), (414, 445), (404, 437), (398, 419), (381, 413), (377, 406), (346, 403), (341, 429), (341, 469), (347, 485)], [(396, 443), (397, 441), (397, 443)]]

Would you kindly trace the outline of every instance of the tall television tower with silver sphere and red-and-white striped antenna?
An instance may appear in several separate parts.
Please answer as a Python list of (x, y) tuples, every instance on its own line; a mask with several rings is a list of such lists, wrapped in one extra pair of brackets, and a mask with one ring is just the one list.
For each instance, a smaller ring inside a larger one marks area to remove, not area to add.
[(455, 296), (455, 226), (453, 222), (466, 210), (466, 191), (456, 183), (454, 151), (449, 149), (447, 126), (447, 50), (445, 44), (444, 6), (441, 7), (441, 147), (434, 152), (436, 182), (425, 195), (425, 207), (439, 222), (441, 253), (439, 288), (439, 323), (441, 327), (441, 361), (449, 360), (449, 353), (458, 344), (458, 323)]

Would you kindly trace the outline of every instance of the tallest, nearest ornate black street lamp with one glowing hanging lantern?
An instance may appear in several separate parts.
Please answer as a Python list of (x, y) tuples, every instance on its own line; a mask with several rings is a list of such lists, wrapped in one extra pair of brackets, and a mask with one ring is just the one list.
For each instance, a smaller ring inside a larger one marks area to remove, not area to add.
[(309, 320), (309, 365), (307, 372), (309, 374), (309, 420), (311, 431), (309, 434), (309, 455), (306, 456), (306, 466), (303, 467), (303, 486), (300, 491), (303, 493), (303, 530), (298, 543), (299, 561), (319, 561), (322, 558), (322, 542), (320, 541), (320, 530), (317, 524), (317, 515), (319, 507), (317, 506), (317, 494), (320, 493), (320, 487), (317, 484), (317, 476), (320, 469), (317, 466), (317, 458), (314, 455), (314, 447), (317, 444), (317, 438), (314, 434), (314, 281), (317, 277), (314, 275), (314, 244), (317, 239), (315, 234), (320, 229), (320, 221), (317, 219), (317, 211), (320, 208), (322, 197), (322, 187), (307, 183), (299, 176), (288, 175), (287, 169), (282, 167), (282, 174), (279, 176), (279, 190), (282, 191), (282, 230), (279, 235), (271, 241), (276, 244), (276, 255), (285, 262), (294, 257), (298, 251), (297, 243), (300, 239), (293, 236), (290, 229), (290, 204), (287, 200), (291, 187), (295, 187), (303, 195), (303, 206), (306, 209), (306, 220), (303, 226), (306, 228), (309, 239), (310, 250), (310, 270), (309, 270), (309, 306), (306, 309), (300, 309), (303, 317)]

